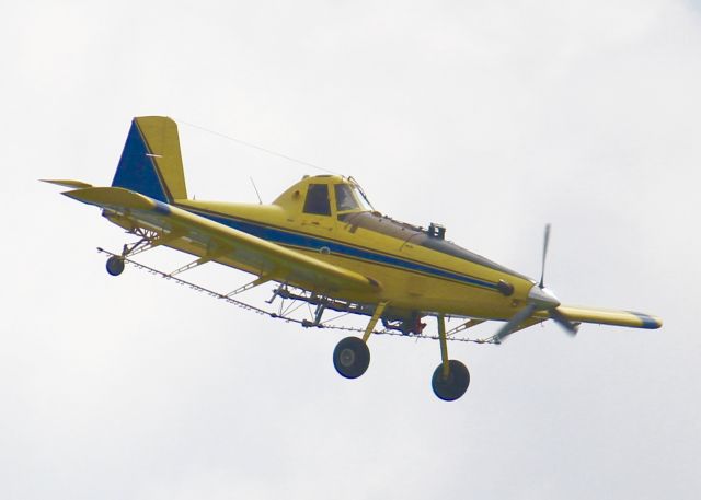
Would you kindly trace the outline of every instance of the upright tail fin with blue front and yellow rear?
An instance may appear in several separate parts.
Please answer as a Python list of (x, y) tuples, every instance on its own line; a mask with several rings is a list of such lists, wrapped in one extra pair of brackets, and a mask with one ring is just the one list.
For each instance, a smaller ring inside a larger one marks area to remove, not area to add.
[(134, 118), (112, 185), (164, 202), (186, 199), (175, 121), (164, 116)]

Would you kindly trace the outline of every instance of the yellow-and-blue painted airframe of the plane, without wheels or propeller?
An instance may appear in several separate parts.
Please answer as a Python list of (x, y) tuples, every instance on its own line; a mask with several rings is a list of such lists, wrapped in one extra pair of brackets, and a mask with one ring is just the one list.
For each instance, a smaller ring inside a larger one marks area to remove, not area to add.
[[(528, 303), (536, 284), (440, 234), (368, 209), (352, 178), (304, 176), (271, 205), (188, 199), (177, 126), (166, 117), (133, 120), (111, 187), (54, 183), (73, 188), (66, 196), (103, 208), (117, 225), (162, 234), (165, 246), (349, 302), (505, 321)], [(327, 207), (304, 210), (311, 188), (324, 190)], [(662, 326), (642, 313), (558, 309), (573, 322)]]

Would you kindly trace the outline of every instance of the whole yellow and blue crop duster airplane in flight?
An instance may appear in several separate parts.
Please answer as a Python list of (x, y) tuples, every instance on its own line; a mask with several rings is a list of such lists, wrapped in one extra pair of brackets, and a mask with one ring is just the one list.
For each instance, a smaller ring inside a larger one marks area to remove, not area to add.
[[(275, 293), (324, 311), (369, 316), (361, 337), (346, 337), (333, 352), (338, 373), (356, 379), (368, 368), (367, 341), (377, 323), (421, 335), (435, 316), (441, 363), (432, 385), (444, 400), (462, 396), (470, 383), (464, 364), (448, 358), (446, 317), (505, 322), (491, 341), (553, 319), (575, 334), (581, 323), (659, 328), (647, 314), (561, 305), (543, 284), (446, 241), (445, 229), (422, 229), (375, 211), (352, 177), (306, 176), (272, 205), (199, 201), (187, 198), (177, 126), (166, 117), (135, 118), (110, 187), (77, 181), (47, 181), (70, 187), (64, 195), (94, 205), (102, 214), (140, 237), (112, 255), (107, 271), (119, 275), (125, 259), (156, 246), (197, 257), (185, 270), (208, 261), (231, 266)], [(549, 228), (543, 245), (543, 269)], [(290, 289), (291, 288), (291, 289)], [(275, 298), (276, 295), (274, 295)]]

